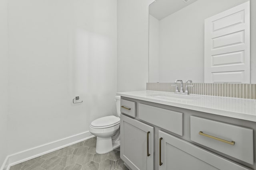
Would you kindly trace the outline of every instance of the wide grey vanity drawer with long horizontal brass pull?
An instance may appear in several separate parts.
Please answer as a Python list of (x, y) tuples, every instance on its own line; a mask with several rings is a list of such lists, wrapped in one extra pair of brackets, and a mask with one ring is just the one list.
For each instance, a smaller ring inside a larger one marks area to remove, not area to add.
[(254, 163), (253, 129), (190, 116), (190, 139), (249, 164)]

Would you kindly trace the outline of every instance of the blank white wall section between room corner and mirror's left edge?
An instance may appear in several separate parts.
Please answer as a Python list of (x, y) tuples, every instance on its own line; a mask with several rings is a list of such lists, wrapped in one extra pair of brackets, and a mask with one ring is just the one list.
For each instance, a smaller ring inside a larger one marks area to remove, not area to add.
[(153, 0), (117, 1), (117, 91), (146, 90), (148, 5)]

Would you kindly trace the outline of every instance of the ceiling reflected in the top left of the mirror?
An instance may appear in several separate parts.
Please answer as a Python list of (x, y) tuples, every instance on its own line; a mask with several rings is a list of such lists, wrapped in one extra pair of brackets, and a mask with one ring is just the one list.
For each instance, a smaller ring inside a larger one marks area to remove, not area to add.
[(177, 12), (178, 10), (196, 2), (197, 0), (156, 0), (149, 6), (149, 14), (158, 20), (162, 20), (166, 16)]

